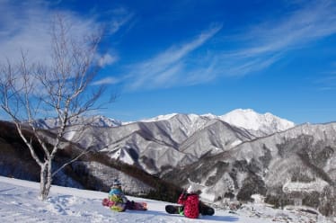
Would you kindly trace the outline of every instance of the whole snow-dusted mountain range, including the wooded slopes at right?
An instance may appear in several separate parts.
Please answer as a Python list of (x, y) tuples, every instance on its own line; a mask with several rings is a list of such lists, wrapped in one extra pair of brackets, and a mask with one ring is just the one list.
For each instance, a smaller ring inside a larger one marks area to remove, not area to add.
[[(280, 207), (301, 202), (336, 215), (336, 123), (296, 126), (242, 109), (221, 116), (173, 113), (110, 127), (89, 122), (81, 131), (81, 125), (70, 126), (67, 139), (182, 187), (196, 183), (201, 196), (219, 206), (259, 193)], [(109, 182), (111, 166), (85, 166)]]

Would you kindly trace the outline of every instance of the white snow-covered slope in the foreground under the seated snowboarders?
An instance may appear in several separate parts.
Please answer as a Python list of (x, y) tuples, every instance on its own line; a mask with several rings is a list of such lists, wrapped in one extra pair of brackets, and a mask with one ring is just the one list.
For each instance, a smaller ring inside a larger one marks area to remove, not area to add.
[(93, 192), (74, 188), (52, 186), (49, 200), (39, 201), (39, 183), (0, 176), (1, 222), (332, 222), (299, 210), (274, 210), (264, 204), (248, 204), (230, 213), (216, 210), (214, 216), (187, 219), (169, 215), (164, 211), (164, 201), (128, 197), (134, 201), (146, 201), (148, 210), (114, 212), (102, 206), (106, 192)]

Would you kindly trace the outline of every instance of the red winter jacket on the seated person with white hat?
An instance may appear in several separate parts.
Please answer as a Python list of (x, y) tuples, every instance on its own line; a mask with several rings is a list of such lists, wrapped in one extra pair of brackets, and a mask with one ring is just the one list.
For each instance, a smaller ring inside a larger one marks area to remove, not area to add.
[(196, 193), (182, 193), (179, 204), (184, 206), (184, 216), (190, 219), (199, 218), (199, 195)]

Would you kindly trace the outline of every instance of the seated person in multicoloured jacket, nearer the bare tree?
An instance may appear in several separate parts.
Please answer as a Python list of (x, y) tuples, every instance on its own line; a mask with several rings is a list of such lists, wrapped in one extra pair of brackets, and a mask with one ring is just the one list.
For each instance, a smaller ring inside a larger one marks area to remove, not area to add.
[(121, 183), (115, 179), (109, 192), (108, 206), (111, 210), (125, 211), (134, 209), (134, 201), (128, 201), (128, 198), (121, 190)]

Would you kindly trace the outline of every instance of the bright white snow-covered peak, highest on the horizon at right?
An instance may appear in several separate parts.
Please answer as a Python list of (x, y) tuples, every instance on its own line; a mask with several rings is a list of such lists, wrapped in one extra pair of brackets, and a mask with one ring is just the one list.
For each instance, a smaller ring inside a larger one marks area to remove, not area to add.
[(281, 119), (270, 112), (260, 114), (252, 109), (236, 109), (218, 118), (237, 127), (261, 131), (267, 131), (270, 128), (282, 131), (295, 126), (294, 122)]

